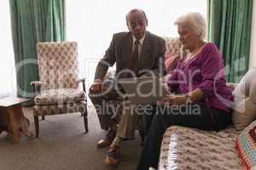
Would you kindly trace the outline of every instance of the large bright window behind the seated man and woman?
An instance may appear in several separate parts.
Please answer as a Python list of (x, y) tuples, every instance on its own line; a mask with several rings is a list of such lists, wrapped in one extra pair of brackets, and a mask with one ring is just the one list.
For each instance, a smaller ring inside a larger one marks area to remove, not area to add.
[(164, 37), (177, 37), (173, 23), (178, 16), (192, 11), (207, 15), (207, 0), (77, 0), (67, 1), (66, 6), (67, 40), (79, 42), (79, 64), (82, 75), (89, 78), (87, 87), (113, 33), (128, 31), (125, 14), (132, 8), (142, 8), (148, 17), (147, 30)]

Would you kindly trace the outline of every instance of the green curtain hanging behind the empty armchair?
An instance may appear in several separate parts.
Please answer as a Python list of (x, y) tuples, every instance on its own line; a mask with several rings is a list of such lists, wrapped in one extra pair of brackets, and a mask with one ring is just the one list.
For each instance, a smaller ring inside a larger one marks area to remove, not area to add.
[(66, 40), (65, 0), (9, 0), (17, 93), (32, 97), (38, 80), (37, 42)]

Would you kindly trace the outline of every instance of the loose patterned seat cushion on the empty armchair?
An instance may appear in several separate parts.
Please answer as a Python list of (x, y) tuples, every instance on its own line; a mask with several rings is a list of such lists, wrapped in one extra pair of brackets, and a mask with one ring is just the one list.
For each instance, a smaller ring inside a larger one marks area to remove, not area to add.
[(85, 100), (85, 93), (79, 89), (61, 88), (44, 90), (36, 96), (36, 105), (60, 105)]

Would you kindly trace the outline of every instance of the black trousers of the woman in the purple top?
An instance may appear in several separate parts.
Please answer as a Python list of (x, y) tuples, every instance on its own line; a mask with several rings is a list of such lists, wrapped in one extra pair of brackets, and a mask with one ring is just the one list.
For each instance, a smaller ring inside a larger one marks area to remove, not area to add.
[(203, 130), (219, 130), (230, 124), (230, 118), (230, 112), (206, 105), (189, 104), (176, 107), (154, 105), (152, 111), (147, 111), (143, 115), (147, 137), (137, 170), (157, 168), (160, 145), (167, 127), (177, 125)]

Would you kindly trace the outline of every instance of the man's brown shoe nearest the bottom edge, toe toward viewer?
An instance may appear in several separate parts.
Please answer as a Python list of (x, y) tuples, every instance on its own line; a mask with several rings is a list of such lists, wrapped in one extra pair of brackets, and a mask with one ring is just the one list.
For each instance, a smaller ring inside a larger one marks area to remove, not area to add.
[(110, 149), (108, 150), (108, 155), (104, 159), (104, 163), (115, 166), (119, 163), (119, 157), (119, 147), (116, 145), (110, 145)]

